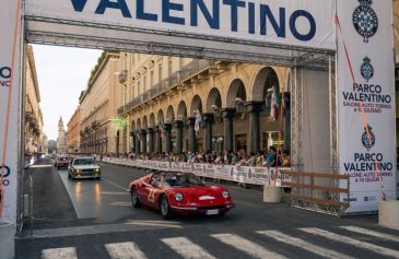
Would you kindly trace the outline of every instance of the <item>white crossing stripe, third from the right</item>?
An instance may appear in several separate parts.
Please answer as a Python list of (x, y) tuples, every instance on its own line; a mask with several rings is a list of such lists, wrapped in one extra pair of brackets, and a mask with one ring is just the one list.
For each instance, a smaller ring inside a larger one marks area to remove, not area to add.
[(286, 234), (283, 234), (278, 231), (258, 231), (258, 234), (268, 236), (270, 238), (273, 238), (278, 242), (285, 243), (290, 246), (296, 246), (304, 250), (310, 251), (313, 254), (316, 254), (318, 256), (325, 257), (325, 258), (345, 258), (345, 259), (354, 259), (354, 257), (347, 256), (344, 254), (330, 250), (327, 248), (322, 248), (316, 245), (313, 245), (312, 243), (305, 242), (303, 239), (300, 239), (297, 237), (292, 237)]

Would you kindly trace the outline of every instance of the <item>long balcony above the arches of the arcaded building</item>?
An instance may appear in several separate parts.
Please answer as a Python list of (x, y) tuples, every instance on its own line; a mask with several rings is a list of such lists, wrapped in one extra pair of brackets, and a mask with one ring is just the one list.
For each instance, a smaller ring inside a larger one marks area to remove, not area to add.
[[(213, 66), (216, 66), (216, 68), (212, 69)], [(187, 87), (192, 80), (197, 80), (199, 82), (207, 80), (209, 78), (208, 75), (213, 73), (211, 70), (219, 71), (219, 64), (216, 61), (196, 59), (184, 67), (180, 71), (171, 74), (171, 76), (153, 85), (150, 90), (140, 94), (125, 106), (119, 107), (117, 114), (122, 115), (128, 113), (150, 99), (159, 97), (162, 94), (167, 94), (174, 89), (177, 90), (178, 86)]]

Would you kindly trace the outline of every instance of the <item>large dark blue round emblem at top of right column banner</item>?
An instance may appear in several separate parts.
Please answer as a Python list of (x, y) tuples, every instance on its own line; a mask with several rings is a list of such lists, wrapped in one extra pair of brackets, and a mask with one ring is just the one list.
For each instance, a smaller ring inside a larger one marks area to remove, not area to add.
[(368, 38), (378, 31), (378, 17), (372, 9), (373, 0), (359, 0), (359, 3), (360, 5), (353, 12), (353, 25), (364, 43), (368, 43)]

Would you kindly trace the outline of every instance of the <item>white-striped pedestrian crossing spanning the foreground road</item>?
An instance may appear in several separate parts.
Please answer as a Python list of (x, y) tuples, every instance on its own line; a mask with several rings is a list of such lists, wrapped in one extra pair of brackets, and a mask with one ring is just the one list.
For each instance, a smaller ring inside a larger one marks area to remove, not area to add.
[[(303, 251), (318, 258), (354, 259), (365, 258), (365, 255), (368, 255), (368, 258), (375, 258), (377, 255), (399, 259), (399, 233), (397, 234), (392, 235), (359, 226), (339, 226), (329, 229), (301, 227), (292, 231), (263, 229), (245, 234), (215, 233), (201, 236), (201, 238), (192, 236), (165, 237), (154, 238), (151, 242), (166, 247), (160, 248), (162, 256), (157, 258), (226, 258), (222, 249), (225, 246), (224, 248), (228, 250), (230, 255), (239, 255), (230, 256), (230, 258), (301, 258), (303, 256), (298, 256), (302, 255), (298, 252)], [(207, 239), (207, 245), (202, 244), (203, 239)], [(352, 247), (355, 249), (347, 249)], [(141, 244), (140, 239), (105, 244), (104, 250), (107, 252), (106, 258), (112, 259), (154, 258), (151, 249), (149, 250), (145, 245)], [(169, 255), (171, 252), (174, 254)], [(82, 259), (79, 258), (75, 247), (42, 250), (42, 259), (59, 258)]]

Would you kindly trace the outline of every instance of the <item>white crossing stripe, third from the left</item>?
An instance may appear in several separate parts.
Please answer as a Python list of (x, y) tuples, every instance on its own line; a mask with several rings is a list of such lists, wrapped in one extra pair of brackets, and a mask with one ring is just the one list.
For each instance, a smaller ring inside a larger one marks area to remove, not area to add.
[(193, 244), (186, 237), (175, 237), (175, 238), (163, 238), (161, 239), (173, 250), (179, 254), (186, 259), (215, 259), (207, 250), (202, 249), (200, 246)]

